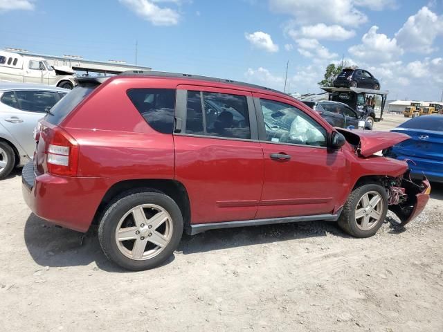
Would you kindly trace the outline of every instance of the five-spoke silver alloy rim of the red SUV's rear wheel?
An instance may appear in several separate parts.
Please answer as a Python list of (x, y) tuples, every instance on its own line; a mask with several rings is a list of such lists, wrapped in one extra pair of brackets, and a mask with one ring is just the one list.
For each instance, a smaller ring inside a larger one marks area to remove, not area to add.
[(172, 218), (161, 206), (138, 205), (118, 222), (116, 243), (118, 250), (137, 261), (152, 259), (168, 245), (172, 237)]

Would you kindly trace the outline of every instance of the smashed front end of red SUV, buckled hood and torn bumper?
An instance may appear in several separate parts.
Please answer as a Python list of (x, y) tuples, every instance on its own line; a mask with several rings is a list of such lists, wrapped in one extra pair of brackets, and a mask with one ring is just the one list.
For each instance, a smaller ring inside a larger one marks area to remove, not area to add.
[(378, 179), (388, 194), (388, 209), (398, 216), (401, 221), (400, 225), (406, 225), (424, 210), (429, 200), (429, 194), (431, 194), (431, 185), (426, 176), (423, 176), (422, 179), (411, 178), (406, 162), (374, 156), (383, 149), (407, 140), (408, 135), (381, 131), (337, 130), (354, 147), (355, 154), (359, 158), (365, 158), (365, 160), (377, 158), (377, 160), (389, 161), (390, 163), (383, 163), (387, 169), (390, 164), (394, 168), (393, 163), (396, 168), (399, 168), (398, 165), (402, 166), (398, 171), (401, 174), (392, 176), (386, 171), (386, 176)]

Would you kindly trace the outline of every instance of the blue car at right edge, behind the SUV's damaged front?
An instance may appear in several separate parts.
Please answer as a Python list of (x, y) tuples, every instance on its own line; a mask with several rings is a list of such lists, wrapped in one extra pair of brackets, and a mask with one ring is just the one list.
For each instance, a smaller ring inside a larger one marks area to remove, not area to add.
[(420, 116), (392, 129), (410, 139), (383, 151), (383, 155), (406, 160), (411, 176), (443, 183), (443, 115)]

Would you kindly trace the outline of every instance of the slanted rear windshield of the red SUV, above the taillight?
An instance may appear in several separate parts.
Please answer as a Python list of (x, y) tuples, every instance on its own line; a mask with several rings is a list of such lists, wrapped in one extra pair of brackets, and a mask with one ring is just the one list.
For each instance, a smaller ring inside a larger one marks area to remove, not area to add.
[(93, 87), (77, 86), (73, 91), (68, 93), (66, 97), (60, 100), (60, 102), (54, 105), (45, 120), (52, 124), (60, 124), (84, 98), (87, 98), (93, 89)]

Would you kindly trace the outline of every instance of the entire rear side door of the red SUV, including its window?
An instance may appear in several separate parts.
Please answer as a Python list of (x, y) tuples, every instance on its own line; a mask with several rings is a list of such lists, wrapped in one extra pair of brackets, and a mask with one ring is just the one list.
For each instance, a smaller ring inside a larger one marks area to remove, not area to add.
[(192, 223), (254, 219), (264, 162), (251, 93), (178, 86), (174, 146)]

